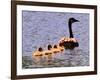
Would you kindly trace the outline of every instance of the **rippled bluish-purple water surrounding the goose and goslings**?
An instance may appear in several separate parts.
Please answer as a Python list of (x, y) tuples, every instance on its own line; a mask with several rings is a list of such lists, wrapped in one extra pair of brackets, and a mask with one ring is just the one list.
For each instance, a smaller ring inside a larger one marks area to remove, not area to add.
[[(69, 37), (68, 19), (70, 17), (80, 21), (72, 25), (79, 47), (56, 54), (50, 62), (42, 59), (37, 64), (32, 58), (32, 52), (40, 46), (46, 50), (48, 44), (54, 45), (63, 36)], [(22, 18), (22, 68), (89, 66), (89, 14), (22, 11)]]

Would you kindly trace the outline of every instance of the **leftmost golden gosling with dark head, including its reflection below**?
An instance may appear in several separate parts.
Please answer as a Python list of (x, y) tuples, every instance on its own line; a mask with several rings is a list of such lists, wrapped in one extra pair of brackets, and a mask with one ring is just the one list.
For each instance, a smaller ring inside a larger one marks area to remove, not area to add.
[(35, 59), (37, 63), (40, 62), (42, 56), (43, 56), (43, 49), (41, 47), (32, 53), (32, 57)]

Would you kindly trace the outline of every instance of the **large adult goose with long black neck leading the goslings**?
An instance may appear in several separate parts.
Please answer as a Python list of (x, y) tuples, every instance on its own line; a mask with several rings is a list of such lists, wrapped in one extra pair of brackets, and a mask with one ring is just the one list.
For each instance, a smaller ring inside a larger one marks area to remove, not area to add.
[(68, 21), (68, 27), (69, 27), (69, 38), (63, 37), (60, 40), (60, 43), (65, 47), (65, 49), (74, 49), (75, 47), (79, 46), (79, 43), (74, 38), (73, 32), (72, 32), (72, 23), (79, 22), (75, 18), (69, 18)]

